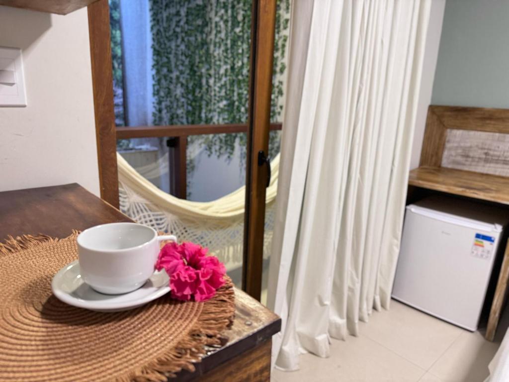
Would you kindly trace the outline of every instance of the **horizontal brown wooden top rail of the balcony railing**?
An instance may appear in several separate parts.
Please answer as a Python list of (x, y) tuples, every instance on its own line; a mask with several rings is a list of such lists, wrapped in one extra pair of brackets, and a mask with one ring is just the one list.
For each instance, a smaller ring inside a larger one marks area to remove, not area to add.
[[(271, 123), (271, 130), (281, 130), (280, 123)], [(231, 134), (247, 132), (247, 124), (169, 125), (117, 127), (117, 139), (184, 137), (202, 134)]]

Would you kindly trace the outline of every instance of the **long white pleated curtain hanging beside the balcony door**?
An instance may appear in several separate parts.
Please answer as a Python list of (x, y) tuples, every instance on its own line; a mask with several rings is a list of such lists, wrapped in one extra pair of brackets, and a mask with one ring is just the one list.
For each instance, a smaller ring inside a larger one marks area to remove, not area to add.
[(268, 286), (282, 369), (389, 308), (430, 1), (293, 2)]

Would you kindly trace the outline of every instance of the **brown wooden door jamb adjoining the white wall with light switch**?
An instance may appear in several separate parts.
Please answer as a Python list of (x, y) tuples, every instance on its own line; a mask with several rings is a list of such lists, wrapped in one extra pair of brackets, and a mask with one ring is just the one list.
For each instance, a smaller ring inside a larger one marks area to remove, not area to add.
[(119, 178), (108, 0), (89, 5), (88, 15), (101, 198), (118, 208)]

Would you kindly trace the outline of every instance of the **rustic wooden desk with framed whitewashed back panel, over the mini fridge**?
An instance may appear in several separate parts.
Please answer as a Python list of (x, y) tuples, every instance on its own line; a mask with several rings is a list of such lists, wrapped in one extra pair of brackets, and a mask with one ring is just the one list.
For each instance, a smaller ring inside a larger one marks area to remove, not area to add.
[[(430, 106), (420, 164), (409, 174), (409, 201), (422, 189), (509, 205), (509, 110)], [(509, 244), (488, 318), (493, 341), (509, 280)]]

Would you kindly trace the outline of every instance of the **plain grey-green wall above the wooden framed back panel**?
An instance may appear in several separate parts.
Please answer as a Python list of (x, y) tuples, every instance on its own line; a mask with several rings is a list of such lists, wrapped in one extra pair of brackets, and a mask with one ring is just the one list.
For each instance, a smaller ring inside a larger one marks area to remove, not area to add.
[(447, 0), (432, 102), (509, 108), (509, 1)]

